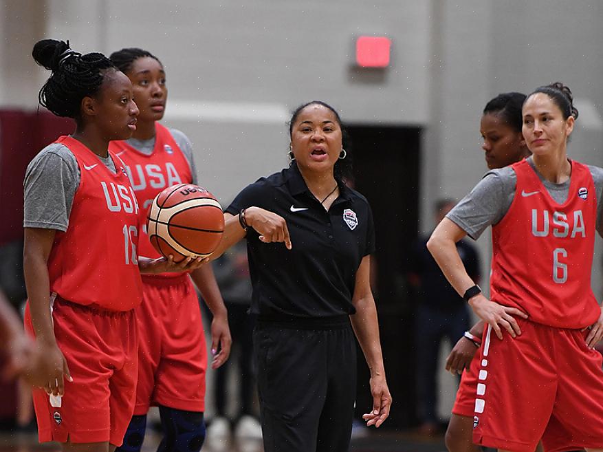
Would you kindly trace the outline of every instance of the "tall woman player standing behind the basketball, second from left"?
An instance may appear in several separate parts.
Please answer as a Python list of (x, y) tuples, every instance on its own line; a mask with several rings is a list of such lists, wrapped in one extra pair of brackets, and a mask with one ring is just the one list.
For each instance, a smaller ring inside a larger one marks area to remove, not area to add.
[[(179, 130), (164, 127), (168, 88), (159, 59), (138, 48), (113, 52), (113, 64), (132, 84), (140, 110), (136, 131), (129, 140), (116, 140), (109, 150), (119, 155), (140, 202), (140, 220), (167, 186), (197, 184), (190, 141)], [(140, 231), (140, 254), (159, 257), (149, 236)], [(164, 438), (160, 450), (198, 452), (206, 435), (204, 423), (207, 351), (195, 285), (212, 312), (212, 368), (230, 353), (230, 331), (212, 267), (193, 272), (144, 275), (142, 303), (136, 310), (139, 325), (138, 385), (134, 416), (119, 451), (140, 452), (146, 413), (159, 407)]]

